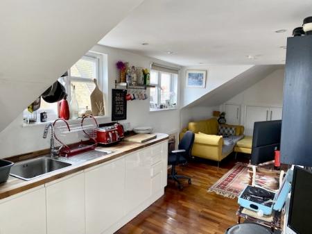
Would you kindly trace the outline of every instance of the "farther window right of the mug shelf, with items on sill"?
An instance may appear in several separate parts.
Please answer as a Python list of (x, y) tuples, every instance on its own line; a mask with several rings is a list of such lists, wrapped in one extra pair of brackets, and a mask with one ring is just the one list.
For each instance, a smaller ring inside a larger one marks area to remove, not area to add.
[[(177, 73), (177, 72), (176, 72)], [(150, 110), (177, 106), (177, 74), (153, 69), (150, 72)]]

